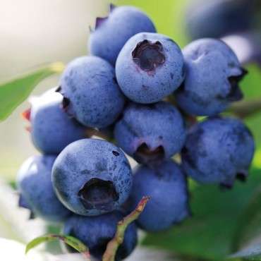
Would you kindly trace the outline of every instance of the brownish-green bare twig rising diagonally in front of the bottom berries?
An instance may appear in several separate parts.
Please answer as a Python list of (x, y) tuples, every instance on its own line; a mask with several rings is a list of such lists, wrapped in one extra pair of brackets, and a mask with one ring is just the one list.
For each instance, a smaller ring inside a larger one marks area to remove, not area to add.
[(138, 219), (140, 213), (144, 210), (147, 202), (150, 200), (150, 197), (143, 197), (142, 200), (138, 203), (137, 207), (133, 212), (128, 214), (128, 216), (124, 217), (123, 220), (118, 222), (117, 231), (114, 238), (109, 241), (107, 244), (106, 251), (102, 257), (102, 261), (114, 261), (116, 252), (119, 248), (119, 245), (123, 243), (124, 233), (128, 227), (128, 225)]

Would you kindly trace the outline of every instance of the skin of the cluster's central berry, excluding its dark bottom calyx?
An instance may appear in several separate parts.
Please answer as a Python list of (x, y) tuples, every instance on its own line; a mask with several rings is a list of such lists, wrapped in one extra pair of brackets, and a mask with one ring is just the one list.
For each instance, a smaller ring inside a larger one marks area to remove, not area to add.
[(170, 158), (181, 151), (186, 128), (178, 109), (167, 102), (129, 104), (116, 123), (114, 138), (117, 145), (136, 160), (135, 152), (144, 142), (150, 150), (162, 146), (164, 157)]

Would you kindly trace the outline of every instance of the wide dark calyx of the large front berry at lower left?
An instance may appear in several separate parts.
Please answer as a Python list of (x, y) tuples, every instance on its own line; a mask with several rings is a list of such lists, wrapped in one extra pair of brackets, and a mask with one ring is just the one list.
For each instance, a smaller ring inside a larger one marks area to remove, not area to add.
[(87, 210), (110, 210), (114, 202), (119, 200), (119, 194), (112, 181), (104, 181), (100, 178), (91, 178), (78, 192), (83, 206)]

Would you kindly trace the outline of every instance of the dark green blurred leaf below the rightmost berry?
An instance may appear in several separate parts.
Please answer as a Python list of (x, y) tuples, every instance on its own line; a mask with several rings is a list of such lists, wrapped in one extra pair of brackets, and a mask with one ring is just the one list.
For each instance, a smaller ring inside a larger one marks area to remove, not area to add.
[(217, 186), (191, 188), (193, 217), (169, 231), (147, 235), (143, 245), (207, 260), (224, 260), (233, 253), (236, 221), (259, 189), (260, 171), (252, 171), (246, 183), (237, 181), (232, 190), (221, 191)]

